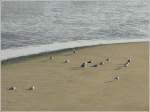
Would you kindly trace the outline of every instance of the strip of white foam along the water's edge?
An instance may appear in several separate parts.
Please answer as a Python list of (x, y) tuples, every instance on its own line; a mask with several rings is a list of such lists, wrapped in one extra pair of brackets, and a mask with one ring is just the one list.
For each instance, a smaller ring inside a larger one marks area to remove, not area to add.
[(75, 48), (75, 47), (93, 46), (99, 44), (145, 42), (145, 41), (150, 41), (150, 39), (78, 40), (78, 41), (69, 41), (69, 42), (62, 42), (62, 43), (53, 43), (48, 45), (19, 47), (19, 48), (1, 50), (1, 60), (8, 60), (12, 58), (21, 57), (21, 56), (29, 56), (33, 54), (52, 52), (52, 51), (64, 50), (64, 49)]

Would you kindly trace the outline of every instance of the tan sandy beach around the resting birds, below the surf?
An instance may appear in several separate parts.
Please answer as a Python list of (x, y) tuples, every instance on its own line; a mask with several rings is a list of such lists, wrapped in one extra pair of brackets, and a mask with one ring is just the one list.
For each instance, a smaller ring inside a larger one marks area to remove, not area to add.
[[(147, 111), (148, 45), (98, 45), (77, 48), (76, 53), (69, 49), (3, 63), (2, 110)], [(129, 58), (129, 66), (124, 67)], [(89, 60), (93, 62), (80, 67)], [(114, 76), (119, 80), (113, 80)], [(11, 86), (16, 89), (8, 90)], [(31, 86), (35, 89), (28, 90)]]

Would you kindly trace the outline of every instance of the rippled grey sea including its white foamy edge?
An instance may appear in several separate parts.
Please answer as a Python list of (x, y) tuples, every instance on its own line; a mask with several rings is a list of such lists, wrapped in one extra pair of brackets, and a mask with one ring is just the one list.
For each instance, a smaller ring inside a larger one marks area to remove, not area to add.
[(149, 0), (2, 1), (1, 60), (149, 40)]

